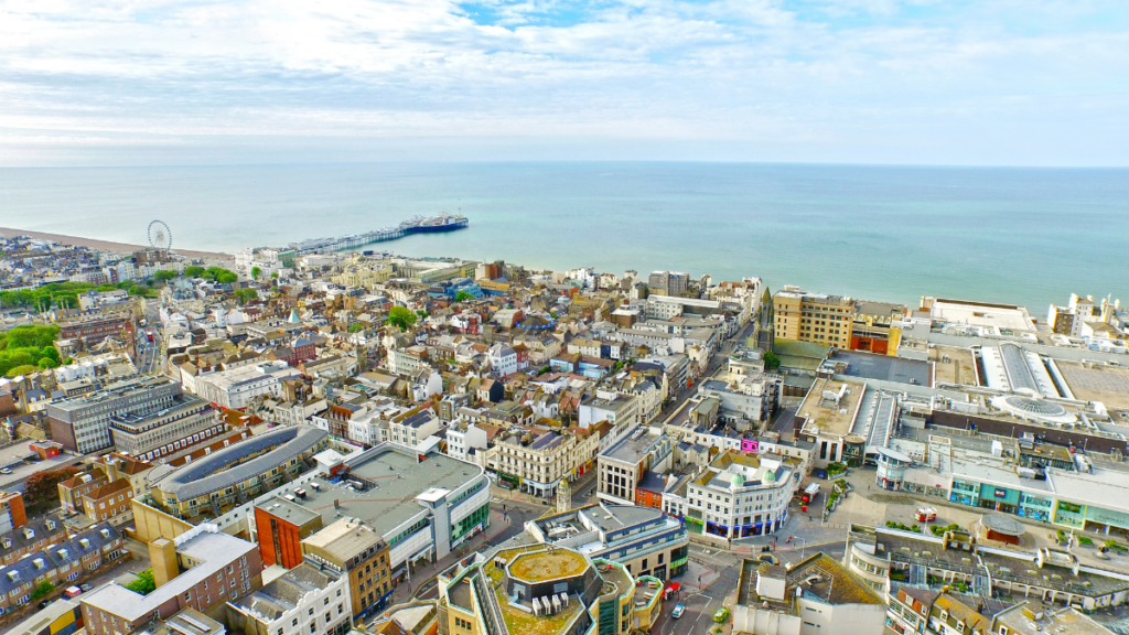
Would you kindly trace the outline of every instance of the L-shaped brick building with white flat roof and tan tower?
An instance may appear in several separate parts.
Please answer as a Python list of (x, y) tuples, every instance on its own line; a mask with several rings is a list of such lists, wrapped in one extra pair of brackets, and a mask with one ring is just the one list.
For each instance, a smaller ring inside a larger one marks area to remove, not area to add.
[(116, 582), (81, 595), (87, 633), (130, 633), (186, 608), (219, 619), (226, 602), (262, 586), (255, 545), (215, 525), (192, 528), (173, 540), (158, 538), (149, 543), (149, 556), (157, 589), (148, 595)]

